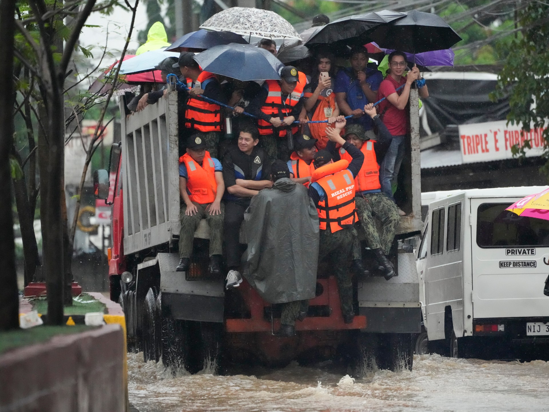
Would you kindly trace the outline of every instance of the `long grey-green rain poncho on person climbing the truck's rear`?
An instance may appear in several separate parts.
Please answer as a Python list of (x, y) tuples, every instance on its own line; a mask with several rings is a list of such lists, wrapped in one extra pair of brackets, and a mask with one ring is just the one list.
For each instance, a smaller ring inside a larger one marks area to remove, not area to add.
[(269, 303), (315, 297), (318, 214), (305, 186), (277, 180), (244, 214), (243, 275)]

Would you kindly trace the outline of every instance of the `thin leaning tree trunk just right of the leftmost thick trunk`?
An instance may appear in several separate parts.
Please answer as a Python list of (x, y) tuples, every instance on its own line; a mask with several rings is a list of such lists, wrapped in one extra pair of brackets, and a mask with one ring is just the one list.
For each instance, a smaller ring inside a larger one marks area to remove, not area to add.
[[(19, 153), (12, 147), (12, 154), (18, 161), (23, 170)], [(23, 239), (23, 254), (25, 257), (25, 286), (32, 282), (36, 266), (40, 264), (38, 258), (38, 246), (36, 244), (36, 236), (34, 232), (34, 210), (30, 209), (29, 197), (27, 196), (27, 186), (25, 185), (25, 175), (13, 177), (13, 192), (15, 195), (15, 205), (17, 206), (17, 214), (19, 215), (19, 226), (21, 229), (21, 238)]]

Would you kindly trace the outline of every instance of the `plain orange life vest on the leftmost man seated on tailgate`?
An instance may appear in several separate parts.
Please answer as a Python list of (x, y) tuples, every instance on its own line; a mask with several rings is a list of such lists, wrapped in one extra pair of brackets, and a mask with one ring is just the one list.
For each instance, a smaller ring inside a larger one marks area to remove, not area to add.
[(191, 201), (198, 204), (213, 202), (217, 192), (217, 182), (214, 161), (210, 153), (206, 151), (201, 166), (188, 153), (182, 155), (179, 162), (184, 163), (187, 168), (187, 189), (191, 192), (189, 194)]

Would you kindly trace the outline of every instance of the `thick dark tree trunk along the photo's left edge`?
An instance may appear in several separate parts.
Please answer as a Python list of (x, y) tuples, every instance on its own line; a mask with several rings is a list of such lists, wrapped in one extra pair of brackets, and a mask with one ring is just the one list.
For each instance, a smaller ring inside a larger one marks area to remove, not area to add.
[(0, 330), (19, 328), (9, 153), (13, 146), (15, 0), (0, 2)]

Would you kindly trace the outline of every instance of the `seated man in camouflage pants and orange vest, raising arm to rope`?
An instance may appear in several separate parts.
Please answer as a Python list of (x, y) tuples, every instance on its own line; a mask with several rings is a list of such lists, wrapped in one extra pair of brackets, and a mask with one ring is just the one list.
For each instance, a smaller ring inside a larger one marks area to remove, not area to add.
[[(400, 218), (395, 202), (381, 191), (378, 162), (383, 160), (386, 149), (391, 143), (391, 135), (376, 113), (373, 104), (367, 104), (364, 111), (378, 128), (377, 140), (370, 140), (362, 125), (356, 123), (347, 126), (345, 140), (364, 154), (364, 163), (355, 177), (355, 204), (358, 220), (360, 220), (359, 230), (362, 231), (368, 247), (376, 254), (385, 279), (389, 280), (395, 275), (395, 271), (386, 255), (389, 254)], [(327, 149), (335, 151), (334, 143), (328, 143)], [(335, 157), (351, 160), (350, 153), (343, 147), (337, 151)], [(379, 233), (373, 215), (381, 222)], [(367, 275), (368, 271), (362, 264), (358, 238), (353, 241), (352, 259), (355, 271)]]

